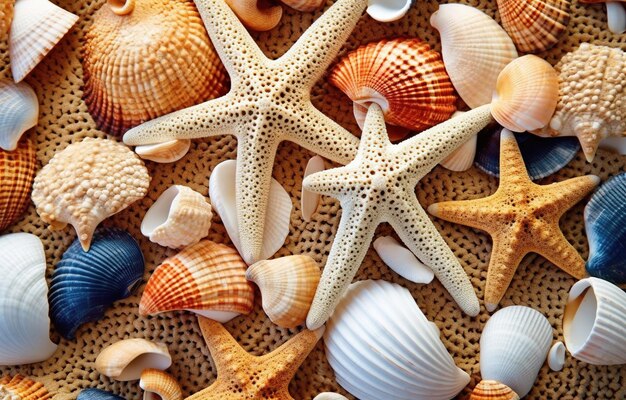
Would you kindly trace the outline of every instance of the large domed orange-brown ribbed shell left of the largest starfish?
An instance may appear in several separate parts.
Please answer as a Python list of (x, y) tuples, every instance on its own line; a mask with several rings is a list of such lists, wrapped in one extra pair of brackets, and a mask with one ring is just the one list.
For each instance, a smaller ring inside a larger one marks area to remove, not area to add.
[(82, 60), (89, 113), (112, 135), (227, 90), (191, 0), (108, 0), (85, 34)]

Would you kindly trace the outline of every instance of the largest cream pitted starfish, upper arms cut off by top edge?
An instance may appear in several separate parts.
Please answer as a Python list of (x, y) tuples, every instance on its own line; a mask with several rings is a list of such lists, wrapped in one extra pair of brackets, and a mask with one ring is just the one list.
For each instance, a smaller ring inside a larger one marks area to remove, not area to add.
[(367, 7), (339, 0), (283, 56), (268, 59), (224, 0), (195, 0), (231, 78), (225, 96), (131, 129), (131, 146), (223, 134), (237, 137), (237, 218), (242, 254), (260, 259), (278, 144), (295, 142), (333, 161), (350, 162), (359, 140), (311, 104), (310, 91)]

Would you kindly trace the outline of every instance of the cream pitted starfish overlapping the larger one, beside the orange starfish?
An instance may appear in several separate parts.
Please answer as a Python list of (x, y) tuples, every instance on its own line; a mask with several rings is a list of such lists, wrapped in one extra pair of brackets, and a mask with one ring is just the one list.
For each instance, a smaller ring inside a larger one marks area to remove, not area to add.
[(345, 167), (305, 178), (307, 190), (339, 199), (342, 208), (339, 228), (307, 316), (309, 329), (321, 326), (333, 312), (382, 222), (389, 222), (404, 244), (433, 269), (467, 314), (478, 314), (478, 299), (469, 278), (419, 204), (415, 186), (490, 121), (490, 106), (486, 105), (394, 145), (387, 137), (382, 110), (372, 104), (356, 158)]

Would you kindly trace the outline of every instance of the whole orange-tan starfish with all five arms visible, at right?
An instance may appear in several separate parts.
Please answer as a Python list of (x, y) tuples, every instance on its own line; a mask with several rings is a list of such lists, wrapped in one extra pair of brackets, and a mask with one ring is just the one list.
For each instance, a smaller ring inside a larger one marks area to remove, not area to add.
[(491, 235), (493, 248), (484, 302), (487, 310), (493, 311), (522, 258), (530, 252), (542, 255), (577, 279), (585, 277), (585, 262), (563, 236), (559, 219), (598, 183), (600, 178), (594, 175), (550, 185), (533, 183), (515, 137), (503, 130), (498, 190), (481, 199), (435, 203), (428, 212)]

